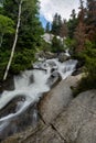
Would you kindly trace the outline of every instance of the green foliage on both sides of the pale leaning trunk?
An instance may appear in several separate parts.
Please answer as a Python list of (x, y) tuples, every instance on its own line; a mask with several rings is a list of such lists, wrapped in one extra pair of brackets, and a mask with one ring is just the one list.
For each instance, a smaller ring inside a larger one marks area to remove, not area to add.
[[(18, 12), (19, 0), (4, 0), (3, 7), (0, 8), (0, 80), (2, 79), (11, 54)], [(10, 73), (19, 74), (19, 72), (32, 67), (35, 51), (41, 48), (42, 45), (42, 34), (43, 29), (39, 21), (39, 1), (24, 0), (22, 3), (19, 38)]]

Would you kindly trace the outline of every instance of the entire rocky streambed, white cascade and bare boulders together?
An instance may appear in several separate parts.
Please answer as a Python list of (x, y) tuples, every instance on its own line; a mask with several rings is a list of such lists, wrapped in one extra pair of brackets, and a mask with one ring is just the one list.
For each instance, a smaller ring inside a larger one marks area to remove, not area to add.
[(40, 61), (0, 95), (0, 142), (96, 143), (96, 90), (73, 98), (77, 62)]

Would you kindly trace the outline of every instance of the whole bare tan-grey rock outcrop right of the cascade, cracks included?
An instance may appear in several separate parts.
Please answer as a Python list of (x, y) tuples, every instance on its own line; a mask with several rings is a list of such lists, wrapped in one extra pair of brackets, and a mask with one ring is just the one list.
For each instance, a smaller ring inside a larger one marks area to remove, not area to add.
[(3, 143), (96, 143), (96, 90), (72, 97), (71, 86), (75, 87), (81, 77), (62, 80), (40, 101), (36, 127)]

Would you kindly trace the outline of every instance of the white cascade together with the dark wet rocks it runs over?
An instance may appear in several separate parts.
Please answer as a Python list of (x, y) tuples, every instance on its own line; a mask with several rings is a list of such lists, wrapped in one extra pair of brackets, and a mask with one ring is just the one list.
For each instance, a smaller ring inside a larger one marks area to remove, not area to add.
[[(38, 128), (41, 119), (41, 106), (38, 106), (41, 103), (38, 102), (42, 99), (42, 95), (47, 95), (45, 92), (68, 77), (75, 70), (76, 63), (73, 59), (64, 63), (58, 62), (57, 58), (44, 59), (35, 63), (34, 69), (14, 77), (13, 88), (0, 95), (1, 141), (14, 133), (25, 131), (29, 127)], [(43, 118), (41, 122), (44, 122)]]

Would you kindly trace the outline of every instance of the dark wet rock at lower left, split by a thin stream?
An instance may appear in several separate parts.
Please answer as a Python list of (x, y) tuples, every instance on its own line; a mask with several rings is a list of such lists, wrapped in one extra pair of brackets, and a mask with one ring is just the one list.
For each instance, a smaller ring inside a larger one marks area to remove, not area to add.
[[(24, 102), (24, 98), (19, 97), (13, 99), (2, 111), (0, 111), (0, 118), (6, 117), (11, 113), (15, 113), (17, 105), (19, 102)], [(0, 140), (4, 140), (6, 138), (13, 135), (14, 133), (19, 133), (24, 131), (28, 127), (36, 127), (39, 120), (39, 114), (36, 110), (36, 105), (31, 105), (26, 111), (22, 114), (17, 116), (11, 119), (11, 121), (0, 131)], [(0, 122), (2, 123), (2, 122)]]

